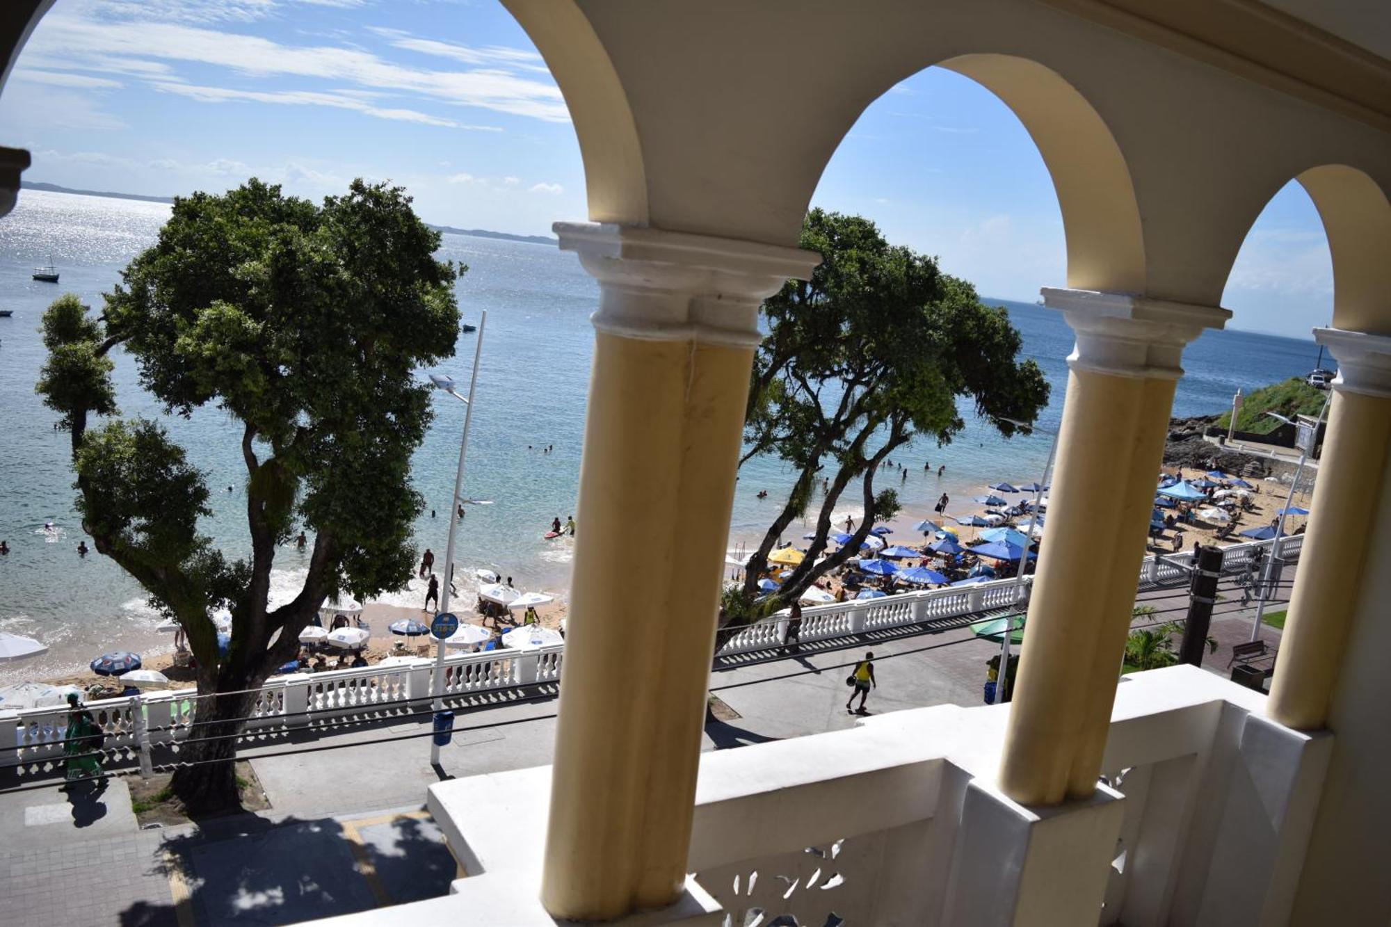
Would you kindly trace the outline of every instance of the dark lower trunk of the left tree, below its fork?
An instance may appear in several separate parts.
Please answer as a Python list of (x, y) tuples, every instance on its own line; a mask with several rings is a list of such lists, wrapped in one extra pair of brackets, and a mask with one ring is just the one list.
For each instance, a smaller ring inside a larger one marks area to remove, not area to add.
[[(231, 679), (220, 682), (230, 690), (255, 686), (250, 679), (239, 683)], [(191, 814), (235, 811), (241, 807), (234, 767), (235, 735), (241, 732), (255, 699), (253, 692), (199, 697), (193, 718), (196, 727), (179, 749), (179, 760), (192, 766), (181, 766), (170, 782), (174, 795)]]

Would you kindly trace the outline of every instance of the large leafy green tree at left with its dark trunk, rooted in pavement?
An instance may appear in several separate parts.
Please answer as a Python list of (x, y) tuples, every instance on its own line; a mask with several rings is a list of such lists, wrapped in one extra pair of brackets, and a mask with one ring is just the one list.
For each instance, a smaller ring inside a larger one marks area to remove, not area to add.
[[(177, 619), (200, 699), (174, 793), (191, 809), (234, 803), (235, 735), (253, 690), (298, 651), (328, 596), (367, 597), (410, 575), (423, 501), (410, 454), (430, 422), (420, 365), (453, 354), (463, 273), (434, 259), (440, 234), (399, 187), (355, 181), (323, 205), (250, 180), (174, 200), (154, 246), (90, 319), (63, 296), (43, 320), (38, 390), (72, 431), (78, 511), (96, 550)], [(216, 405), (245, 465), (250, 557), (228, 560), (199, 530), (204, 473), (163, 425), (114, 415), (107, 354), (121, 345), (168, 413)], [(313, 534), (305, 585), (270, 608), (277, 546)], [(218, 654), (211, 612), (230, 608)]]

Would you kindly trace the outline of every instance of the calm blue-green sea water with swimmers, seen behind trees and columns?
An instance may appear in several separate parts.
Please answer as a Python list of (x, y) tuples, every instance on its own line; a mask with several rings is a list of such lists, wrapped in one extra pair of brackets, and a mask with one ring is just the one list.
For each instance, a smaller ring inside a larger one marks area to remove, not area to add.
[[(45, 355), (36, 330), (45, 306), (61, 292), (75, 292), (100, 308), (100, 294), (117, 283), (131, 258), (153, 244), (167, 216), (163, 203), (25, 191), (14, 213), (0, 219), (0, 309), (14, 310), (13, 317), (0, 319), (0, 539), (13, 551), (0, 558), (0, 631), (51, 647), (36, 661), (0, 664), (0, 682), (67, 671), (114, 647), (168, 643), (167, 635), (153, 631), (157, 618), (134, 580), (104, 557), (77, 555), (83, 534), (72, 507), (67, 436), (53, 430), (54, 415), (33, 393)], [(470, 267), (458, 285), (465, 320), (476, 324), (480, 312), (488, 310), (465, 494), (494, 504), (469, 511), (459, 534), (459, 575), (490, 568), (515, 576), (517, 586), (563, 596), (572, 541), (547, 541), (541, 534), (552, 518), (565, 521), (574, 509), (593, 347), (588, 316), (597, 308), (597, 287), (573, 255), (548, 245), (445, 235), (441, 256)], [(61, 271), (60, 285), (32, 281), (32, 267), (50, 259)], [(1004, 305), (1024, 334), (1025, 352), (1053, 383), (1053, 401), (1040, 425), (1056, 427), (1071, 331), (1054, 312)], [(458, 355), (438, 372), (466, 379), (476, 337), (462, 334)], [(1221, 411), (1238, 387), (1305, 373), (1316, 354), (1312, 341), (1207, 333), (1185, 352), (1188, 374), (1174, 413)], [(160, 415), (157, 404), (139, 391), (131, 358), (115, 356), (115, 381), (124, 415)], [(427, 504), (440, 511), (440, 518), (431, 519), (428, 511), (421, 516), (416, 539), (442, 561), (463, 404), (442, 395), (437, 402), (438, 415), (416, 454), (413, 473)], [(191, 420), (170, 419), (168, 427), (214, 487), (214, 514), (204, 530), (224, 551), (246, 554), (241, 430), (211, 409)], [(544, 445), (555, 451), (542, 454)], [(910, 512), (925, 512), (942, 491), (971, 496), (988, 482), (1034, 480), (1046, 454), (1046, 437), (1006, 441), (972, 422), (950, 447), (928, 441), (901, 454), (897, 459), (908, 465), (910, 476), (900, 494)], [(928, 461), (931, 476), (922, 470)], [(947, 468), (942, 480), (935, 475), (939, 464)], [(776, 461), (746, 465), (733, 511), (736, 541), (761, 534), (790, 479)], [(755, 498), (759, 489), (772, 498)], [(853, 511), (847, 505), (846, 512)], [(54, 529), (46, 530), (46, 522)], [(292, 596), (303, 578), (303, 555), (281, 550), (274, 576), (277, 592)], [(383, 600), (419, 605), (423, 597), (412, 586)]]

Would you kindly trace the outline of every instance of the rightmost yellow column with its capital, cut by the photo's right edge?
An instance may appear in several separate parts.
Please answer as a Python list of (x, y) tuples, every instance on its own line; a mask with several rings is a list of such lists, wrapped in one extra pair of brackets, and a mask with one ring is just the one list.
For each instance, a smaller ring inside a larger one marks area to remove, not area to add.
[(1273, 720), (1302, 731), (1328, 721), (1391, 445), (1391, 338), (1337, 328), (1314, 335), (1338, 359), (1338, 379), (1266, 703)]

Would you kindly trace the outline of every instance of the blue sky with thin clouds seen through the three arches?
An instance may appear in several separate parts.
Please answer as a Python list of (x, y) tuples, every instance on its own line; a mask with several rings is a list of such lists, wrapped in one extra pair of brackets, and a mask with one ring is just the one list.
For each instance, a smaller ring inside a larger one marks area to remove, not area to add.
[[(58, 0), (0, 93), (25, 180), (168, 196), (248, 177), (289, 192), (392, 180), (423, 219), (548, 234), (586, 216), (574, 131), (497, 0)], [(1063, 285), (1057, 198), (1014, 114), (929, 68), (876, 100), (812, 203), (868, 216), (988, 296)], [(1291, 182), (1252, 227), (1231, 327), (1309, 337), (1333, 264)]]

